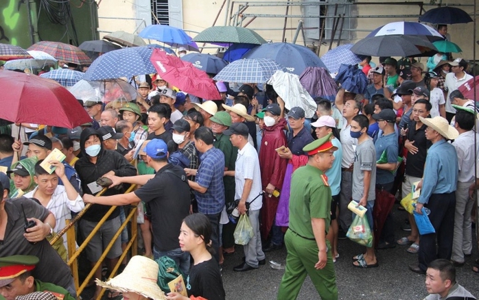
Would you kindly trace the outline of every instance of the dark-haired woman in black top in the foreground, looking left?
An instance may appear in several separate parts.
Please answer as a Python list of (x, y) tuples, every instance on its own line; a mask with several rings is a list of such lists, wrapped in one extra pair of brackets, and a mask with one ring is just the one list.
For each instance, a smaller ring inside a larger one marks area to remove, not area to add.
[(183, 220), (180, 229), (180, 247), (189, 251), (194, 265), (189, 269), (185, 282), (189, 298), (176, 292), (167, 295), (169, 300), (196, 299), (202, 297), (208, 300), (224, 300), (223, 281), (218, 262), (211, 256), (209, 242), (211, 224), (204, 214), (190, 214)]

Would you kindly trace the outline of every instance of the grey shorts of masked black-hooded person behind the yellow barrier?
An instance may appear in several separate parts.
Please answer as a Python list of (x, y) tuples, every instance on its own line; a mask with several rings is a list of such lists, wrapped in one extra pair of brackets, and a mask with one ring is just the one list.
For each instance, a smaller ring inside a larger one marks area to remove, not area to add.
[[(87, 236), (98, 224), (98, 222), (91, 222), (82, 220), (80, 221), (80, 232), (82, 233), (82, 238), (86, 239)], [(100, 256), (108, 244), (113, 239), (113, 236), (117, 233), (119, 227), (121, 226), (121, 222), (119, 216), (116, 218), (112, 218), (111, 220), (105, 221), (105, 223), (100, 227), (97, 233), (91, 238), (90, 242), (86, 245), (86, 258), (90, 262), (97, 262), (100, 260)], [(117, 238), (113, 247), (111, 247), (110, 251), (106, 255), (106, 258), (118, 258), (121, 255), (121, 239)]]

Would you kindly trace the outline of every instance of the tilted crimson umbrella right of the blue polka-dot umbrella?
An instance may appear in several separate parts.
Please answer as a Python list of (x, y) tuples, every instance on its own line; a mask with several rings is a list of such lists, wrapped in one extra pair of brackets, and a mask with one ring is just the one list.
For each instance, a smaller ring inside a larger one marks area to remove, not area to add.
[(161, 78), (183, 92), (207, 100), (221, 99), (213, 79), (209, 78), (207, 73), (193, 66), (191, 62), (168, 55), (161, 49), (154, 49), (150, 60)]

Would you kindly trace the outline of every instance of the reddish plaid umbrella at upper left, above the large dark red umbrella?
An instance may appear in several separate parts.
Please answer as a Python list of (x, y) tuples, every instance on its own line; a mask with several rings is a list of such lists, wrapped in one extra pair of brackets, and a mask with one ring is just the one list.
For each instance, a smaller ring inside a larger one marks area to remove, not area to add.
[(61, 60), (62, 62), (71, 62), (73, 64), (91, 64), (91, 60), (82, 49), (65, 44), (63, 42), (37, 42), (30, 46), (28, 50), (37, 50), (48, 53), (49, 55)]

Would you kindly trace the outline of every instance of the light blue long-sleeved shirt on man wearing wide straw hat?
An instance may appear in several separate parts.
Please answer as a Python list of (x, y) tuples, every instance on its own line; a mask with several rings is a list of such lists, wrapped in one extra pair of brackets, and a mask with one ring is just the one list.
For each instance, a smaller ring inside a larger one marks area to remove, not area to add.
[(456, 190), (459, 168), (456, 148), (445, 140), (435, 142), (425, 158), (423, 188), (419, 203), (428, 203), (432, 194)]

